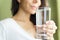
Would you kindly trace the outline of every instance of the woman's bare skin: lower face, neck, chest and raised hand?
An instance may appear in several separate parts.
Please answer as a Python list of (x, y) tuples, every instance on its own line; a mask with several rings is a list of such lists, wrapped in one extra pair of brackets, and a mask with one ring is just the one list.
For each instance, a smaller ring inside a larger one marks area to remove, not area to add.
[[(30, 15), (35, 14), (36, 9), (41, 5), (40, 0), (17, 0), (20, 3), (19, 10), (12, 18), (19, 24), (31, 37), (35, 38), (35, 25), (30, 21)], [(35, 7), (33, 7), (35, 6)], [(27, 25), (28, 24), (28, 25)], [(54, 24), (54, 25), (52, 25)], [(41, 25), (40, 25), (41, 26)], [(53, 34), (57, 27), (54, 21), (47, 21), (42, 25), (42, 30), (47, 32), (49, 40), (54, 40)], [(46, 30), (45, 30), (46, 29)], [(47, 31), (48, 30), (48, 31)]]

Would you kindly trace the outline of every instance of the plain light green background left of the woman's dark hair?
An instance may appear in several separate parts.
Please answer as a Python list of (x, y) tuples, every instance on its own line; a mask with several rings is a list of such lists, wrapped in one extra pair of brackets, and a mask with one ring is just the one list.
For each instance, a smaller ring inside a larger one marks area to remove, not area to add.
[(0, 20), (11, 17), (11, 0), (0, 0)]

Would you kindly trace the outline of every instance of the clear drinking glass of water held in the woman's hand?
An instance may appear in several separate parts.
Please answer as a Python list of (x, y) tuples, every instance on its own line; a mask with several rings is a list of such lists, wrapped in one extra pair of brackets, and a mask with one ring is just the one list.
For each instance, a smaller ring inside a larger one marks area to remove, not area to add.
[[(51, 8), (50, 7), (40, 7), (36, 11), (36, 39), (48, 40), (46, 32), (42, 30), (42, 26), (47, 20), (51, 19)], [(39, 29), (40, 28), (40, 29)]]

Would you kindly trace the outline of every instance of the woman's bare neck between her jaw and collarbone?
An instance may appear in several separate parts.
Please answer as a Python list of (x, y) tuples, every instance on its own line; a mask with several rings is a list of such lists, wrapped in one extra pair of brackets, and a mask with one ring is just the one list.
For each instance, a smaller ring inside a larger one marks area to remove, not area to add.
[(15, 16), (13, 16), (13, 18), (18, 21), (20, 20), (23, 22), (27, 22), (27, 21), (30, 21), (30, 13), (27, 13), (22, 8), (20, 8), (19, 11), (17, 12), (17, 14)]

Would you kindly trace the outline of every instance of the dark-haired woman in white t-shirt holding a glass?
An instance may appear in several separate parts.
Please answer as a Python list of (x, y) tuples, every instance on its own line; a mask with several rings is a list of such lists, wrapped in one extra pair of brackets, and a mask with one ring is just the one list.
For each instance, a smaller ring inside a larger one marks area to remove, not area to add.
[[(13, 17), (0, 21), (0, 40), (36, 40), (34, 15), (41, 4), (42, 0), (12, 0)], [(42, 26), (47, 38), (54, 40), (57, 29), (54, 21), (47, 21)]]

